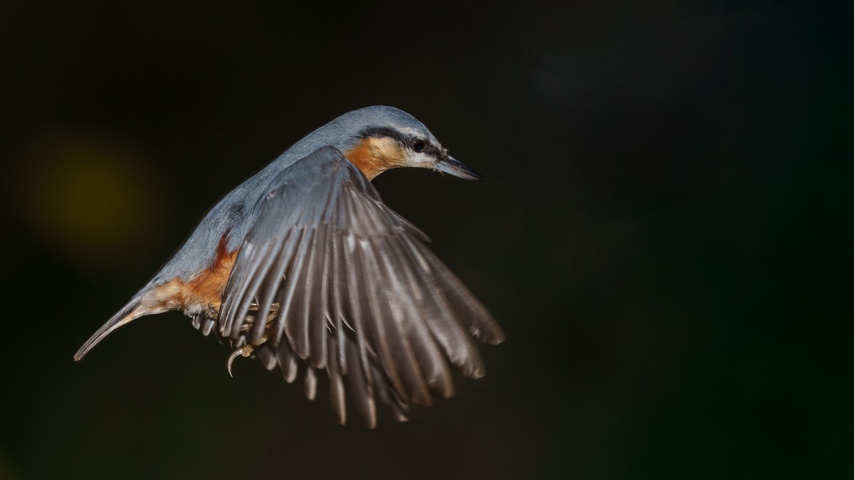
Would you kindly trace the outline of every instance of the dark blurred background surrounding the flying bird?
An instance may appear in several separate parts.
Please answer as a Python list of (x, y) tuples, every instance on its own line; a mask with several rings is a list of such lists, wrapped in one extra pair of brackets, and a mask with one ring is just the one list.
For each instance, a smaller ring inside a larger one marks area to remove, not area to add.
[[(4, 2), (0, 478), (854, 477), (851, 7)], [(483, 173), (375, 184), (494, 313), (486, 378), (339, 427), (179, 313), (72, 354), (353, 108)]]

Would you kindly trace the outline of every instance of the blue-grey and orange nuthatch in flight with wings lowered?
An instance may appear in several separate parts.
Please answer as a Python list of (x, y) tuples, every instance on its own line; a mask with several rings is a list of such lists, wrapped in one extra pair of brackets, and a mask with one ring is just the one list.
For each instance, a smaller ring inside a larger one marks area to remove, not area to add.
[(482, 177), (399, 108), (342, 114), (294, 143), (208, 211), (171, 260), (74, 354), (146, 315), (180, 310), (205, 336), (301, 378), (313, 400), (328, 378), (340, 424), (453, 395), (453, 372), (481, 378), (471, 338), (504, 340), (481, 301), (424, 232), (386, 206), (371, 180), (398, 167)]

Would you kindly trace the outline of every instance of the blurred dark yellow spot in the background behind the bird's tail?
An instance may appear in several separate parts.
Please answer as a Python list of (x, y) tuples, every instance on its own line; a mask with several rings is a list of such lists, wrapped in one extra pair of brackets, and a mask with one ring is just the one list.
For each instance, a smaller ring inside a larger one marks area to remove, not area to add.
[(136, 149), (67, 134), (31, 147), (17, 208), (45, 243), (72, 260), (109, 262), (160, 230), (151, 164)]

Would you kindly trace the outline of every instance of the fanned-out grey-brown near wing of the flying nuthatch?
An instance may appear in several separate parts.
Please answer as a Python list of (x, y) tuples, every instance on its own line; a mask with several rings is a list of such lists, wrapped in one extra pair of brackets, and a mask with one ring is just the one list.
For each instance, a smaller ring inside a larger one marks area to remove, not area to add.
[(325, 147), (279, 173), (256, 208), (219, 312), (219, 329), (284, 378), (304, 372), (313, 398), (329, 376), (332, 407), (373, 427), (377, 400), (408, 405), (453, 395), (447, 362), (471, 378), (471, 336), (503, 334), (483, 305), (383, 204), (340, 151)]

